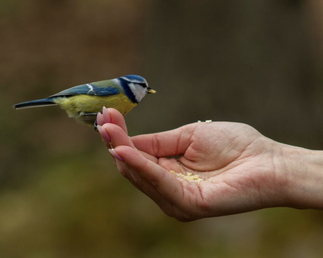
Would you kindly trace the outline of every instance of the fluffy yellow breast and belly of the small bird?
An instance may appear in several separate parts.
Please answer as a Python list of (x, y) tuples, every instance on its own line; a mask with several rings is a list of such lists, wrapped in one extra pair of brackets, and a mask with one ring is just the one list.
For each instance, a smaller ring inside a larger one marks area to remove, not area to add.
[(62, 109), (66, 110), (69, 117), (75, 118), (78, 122), (93, 125), (95, 115), (84, 116), (102, 112), (103, 106), (117, 109), (122, 115), (126, 115), (137, 105), (133, 103), (124, 93), (109, 96), (96, 95), (75, 95), (72, 97), (58, 97), (54, 100)]

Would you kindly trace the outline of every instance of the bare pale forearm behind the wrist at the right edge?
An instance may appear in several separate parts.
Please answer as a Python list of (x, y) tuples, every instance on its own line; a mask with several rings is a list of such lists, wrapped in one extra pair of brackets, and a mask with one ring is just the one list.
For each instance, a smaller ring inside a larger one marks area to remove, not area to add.
[(286, 206), (323, 210), (323, 151), (279, 144)]

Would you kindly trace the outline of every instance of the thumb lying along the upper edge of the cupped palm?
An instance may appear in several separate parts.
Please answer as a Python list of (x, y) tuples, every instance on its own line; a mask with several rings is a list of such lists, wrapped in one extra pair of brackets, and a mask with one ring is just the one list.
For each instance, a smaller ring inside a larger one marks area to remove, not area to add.
[(198, 123), (184, 125), (177, 129), (131, 137), (135, 147), (155, 157), (182, 155), (191, 144), (191, 138)]

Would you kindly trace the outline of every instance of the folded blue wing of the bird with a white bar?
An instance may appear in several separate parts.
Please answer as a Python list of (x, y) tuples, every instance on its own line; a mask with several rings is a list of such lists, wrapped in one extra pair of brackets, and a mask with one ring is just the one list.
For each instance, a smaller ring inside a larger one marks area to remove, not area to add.
[(88, 94), (88, 95), (97, 95), (97, 96), (107, 96), (107, 95), (117, 95), (120, 93), (120, 90), (116, 87), (108, 86), (102, 87), (102, 84), (96, 85), (96, 83), (83, 84), (63, 90), (57, 94), (54, 94), (51, 97), (69, 97), (78, 94)]

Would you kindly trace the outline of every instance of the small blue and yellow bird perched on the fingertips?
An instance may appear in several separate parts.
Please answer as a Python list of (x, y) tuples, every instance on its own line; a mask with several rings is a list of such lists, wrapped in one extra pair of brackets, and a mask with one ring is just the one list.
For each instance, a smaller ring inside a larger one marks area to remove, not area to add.
[(96, 116), (105, 107), (117, 109), (126, 115), (147, 93), (156, 93), (147, 81), (139, 75), (126, 75), (111, 80), (82, 84), (45, 99), (19, 103), (15, 109), (59, 105), (69, 117), (82, 124), (94, 125)]

